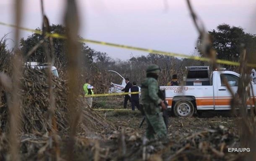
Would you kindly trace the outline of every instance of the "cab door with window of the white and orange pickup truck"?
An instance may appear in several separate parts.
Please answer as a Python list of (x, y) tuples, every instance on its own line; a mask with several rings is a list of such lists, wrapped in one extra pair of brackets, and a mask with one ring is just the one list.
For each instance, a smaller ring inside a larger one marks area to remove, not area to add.
[(217, 88), (214, 91), (214, 110), (227, 110), (230, 109), (230, 100), (232, 99), (231, 93), (228, 91), (224, 84), (224, 79), (226, 78), (227, 83), (230, 85), (232, 92), (236, 92), (238, 89), (238, 77), (234, 74), (229, 73), (216, 73)]

